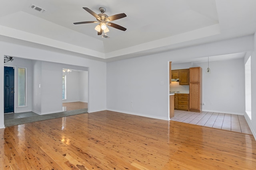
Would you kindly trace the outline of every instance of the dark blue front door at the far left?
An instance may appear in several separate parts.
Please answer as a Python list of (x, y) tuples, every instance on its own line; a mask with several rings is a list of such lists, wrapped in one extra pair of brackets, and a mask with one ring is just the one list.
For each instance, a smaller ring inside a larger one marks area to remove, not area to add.
[(4, 66), (4, 113), (14, 112), (14, 68)]

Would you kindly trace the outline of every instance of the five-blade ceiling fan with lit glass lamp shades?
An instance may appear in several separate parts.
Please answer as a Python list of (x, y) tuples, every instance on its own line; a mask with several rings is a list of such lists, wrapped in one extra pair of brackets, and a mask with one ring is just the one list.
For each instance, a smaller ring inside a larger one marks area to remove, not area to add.
[(107, 16), (106, 14), (104, 14), (104, 12), (106, 11), (106, 8), (104, 7), (100, 7), (99, 10), (101, 12), (101, 14), (96, 14), (95, 12), (93, 12), (92, 10), (90, 10), (89, 8), (84, 7), (84, 10), (86, 10), (87, 12), (89, 12), (90, 14), (92, 14), (92, 16), (94, 16), (96, 18), (97, 21), (83, 21), (83, 22), (75, 22), (74, 24), (81, 24), (81, 23), (99, 23), (96, 27), (95, 30), (98, 31), (98, 35), (102, 35), (102, 32), (104, 31), (104, 33), (107, 33), (109, 31), (108, 26), (110, 27), (114, 27), (116, 29), (120, 29), (122, 31), (125, 31), (126, 28), (122, 27), (120, 25), (117, 25), (115, 23), (111, 23), (110, 21), (114, 21), (114, 20), (118, 20), (120, 18), (124, 18), (126, 17), (126, 14), (122, 13), (122, 14), (116, 14), (113, 16)]

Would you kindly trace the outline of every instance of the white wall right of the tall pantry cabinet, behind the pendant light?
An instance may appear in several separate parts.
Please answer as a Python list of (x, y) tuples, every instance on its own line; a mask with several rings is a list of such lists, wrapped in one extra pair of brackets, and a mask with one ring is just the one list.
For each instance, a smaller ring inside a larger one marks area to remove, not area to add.
[(244, 59), (212, 61), (209, 63), (210, 74), (206, 74), (207, 62), (193, 65), (203, 69), (203, 111), (244, 115)]

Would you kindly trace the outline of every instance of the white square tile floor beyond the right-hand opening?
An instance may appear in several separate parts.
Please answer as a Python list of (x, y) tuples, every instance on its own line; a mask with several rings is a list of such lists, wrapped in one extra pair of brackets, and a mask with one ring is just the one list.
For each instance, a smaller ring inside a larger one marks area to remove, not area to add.
[(171, 120), (252, 135), (244, 115), (174, 110), (174, 117)]

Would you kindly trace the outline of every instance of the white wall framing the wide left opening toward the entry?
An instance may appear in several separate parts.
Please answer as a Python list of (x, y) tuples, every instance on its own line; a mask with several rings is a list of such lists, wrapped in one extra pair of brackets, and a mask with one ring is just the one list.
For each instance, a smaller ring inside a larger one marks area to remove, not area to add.
[[(14, 39), (12, 39), (14, 41)], [(95, 61), (75, 55), (46, 51), (34, 47), (27, 47), (14, 43), (0, 41), (0, 58), (4, 55), (21, 57), (24, 59), (55, 62), (61, 64), (71, 64), (75, 68), (87, 67), (88, 69), (88, 112), (100, 111), (106, 109), (106, 63)], [(62, 70), (62, 66), (61, 66)], [(62, 72), (60, 70), (60, 74)], [(53, 70), (56, 74), (56, 70)], [(4, 78), (4, 64), (0, 65), (0, 79)], [(60, 75), (60, 77), (61, 77)], [(38, 84), (39, 82), (34, 82)], [(0, 128), (4, 128), (4, 86), (0, 84)], [(33, 100), (40, 100), (39, 94), (34, 93)], [(35, 98), (34, 98), (35, 97)], [(61, 101), (62, 102), (62, 101)], [(42, 108), (41, 108), (42, 109)], [(46, 111), (47, 112), (47, 111)]]

